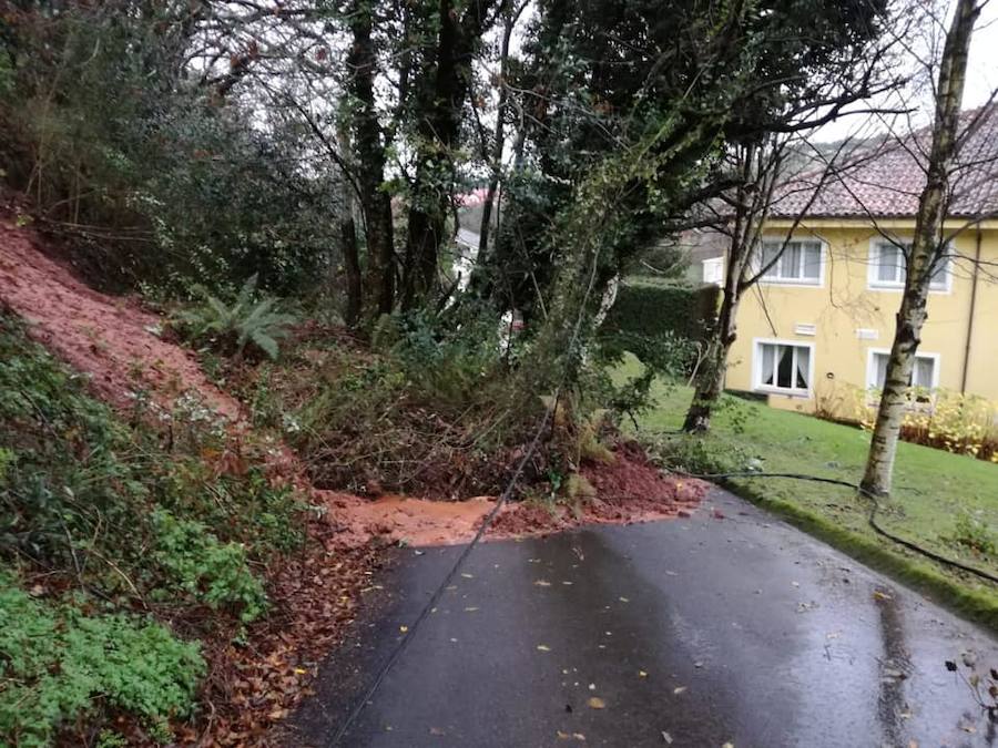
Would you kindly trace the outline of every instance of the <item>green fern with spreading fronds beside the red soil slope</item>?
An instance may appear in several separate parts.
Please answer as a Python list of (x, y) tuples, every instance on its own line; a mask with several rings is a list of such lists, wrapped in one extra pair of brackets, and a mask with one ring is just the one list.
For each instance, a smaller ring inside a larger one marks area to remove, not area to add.
[(272, 359), (277, 358), (278, 340), (288, 336), (295, 317), (281, 311), (273, 296), (257, 296), (255, 275), (243, 284), (232, 305), (212, 296), (204, 287), (196, 286), (195, 293), (202, 303), (174, 317), (185, 337), (208, 340), (228, 355), (241, 357), (252, 347)]

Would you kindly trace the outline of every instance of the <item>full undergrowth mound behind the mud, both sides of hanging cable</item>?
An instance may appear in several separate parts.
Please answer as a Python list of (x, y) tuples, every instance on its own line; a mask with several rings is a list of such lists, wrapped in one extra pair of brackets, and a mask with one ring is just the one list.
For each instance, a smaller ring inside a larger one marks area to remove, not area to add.
[[(642, 407), (651, 380), (614, 385), (604, 358), (619, 356), (619, 346), (604, 345), (556, 403), (551, 392), (525, 393), (518, 378), (532, 341), (502, 337), (491, 310), (464, 309), (385, 316), (369, 341), (342, 328), (301, 327), (279, 360), (252, 367), (202, 355), (249, 406), (255, 426), (283, 433), (318, 488), (496, 495), (544, 410), (556, 408), (520, 492), (558, 493), (599, 451), (599, 439)], [(684, 352), (663, 349), (649, 371), (682, 367)]]

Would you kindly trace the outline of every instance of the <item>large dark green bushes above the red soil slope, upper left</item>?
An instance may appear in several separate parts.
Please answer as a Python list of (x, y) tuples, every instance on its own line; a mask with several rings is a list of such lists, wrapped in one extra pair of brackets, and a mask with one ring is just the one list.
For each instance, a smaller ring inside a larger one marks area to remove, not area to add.
[(254, 273), (285, 295), (325, 284), (340, 197), (314, 141), (283, 107), (186, 79), (185, 3), (125, 7), (4, 3), (2, 176), (104, 286), (169, 298)]

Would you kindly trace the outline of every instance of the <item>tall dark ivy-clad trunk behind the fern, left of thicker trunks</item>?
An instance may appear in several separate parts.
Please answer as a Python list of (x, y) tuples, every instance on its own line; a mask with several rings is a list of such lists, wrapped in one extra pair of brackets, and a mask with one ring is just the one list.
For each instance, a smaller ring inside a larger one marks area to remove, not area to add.
[[(395, 305), (395, 239), (391, 225), (391, 198), (385, 183), (385, 146), (375, 107), (377, 57), (371, 38), (371, 7), (357, 0), (350, 9), (353, 45), (347, 54), (353, 112), (354, 142), (359, 168), (357, 187), (367, 238), (367, 277), (364, 307), (368, 317), (388, 314)], [(359, 266), (357, 268), (359, 274)], [(359, 316), (359, 315), (358, 315)]]

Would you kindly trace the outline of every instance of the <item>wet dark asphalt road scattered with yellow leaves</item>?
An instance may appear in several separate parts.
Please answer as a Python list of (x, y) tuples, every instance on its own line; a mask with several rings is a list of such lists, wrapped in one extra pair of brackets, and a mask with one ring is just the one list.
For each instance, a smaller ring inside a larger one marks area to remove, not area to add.
[[(291, 744), (330, 745), (459, 552), (399, 552)], [(945, 667), (998, 667), (998, 642), (720, 490), (692, 519), (485, 543), (461, 571), (342, 745), (998, 745)]]

